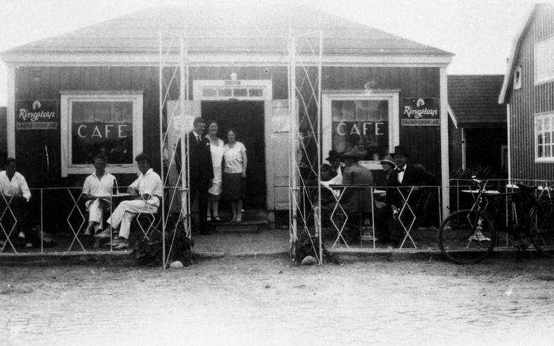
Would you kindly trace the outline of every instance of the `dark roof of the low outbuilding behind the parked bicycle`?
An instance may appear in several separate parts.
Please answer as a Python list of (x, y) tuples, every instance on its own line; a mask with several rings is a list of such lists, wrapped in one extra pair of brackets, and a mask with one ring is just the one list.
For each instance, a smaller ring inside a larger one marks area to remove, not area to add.
[(458, 125), (506, 123), (498, 103), (503, 75), (449, 75), (448, 103)]

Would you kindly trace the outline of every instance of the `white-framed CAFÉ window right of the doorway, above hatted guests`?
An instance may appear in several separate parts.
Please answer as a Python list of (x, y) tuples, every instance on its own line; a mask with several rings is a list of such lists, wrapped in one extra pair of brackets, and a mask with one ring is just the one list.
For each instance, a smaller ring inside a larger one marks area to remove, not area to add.
[(398, 143), (397, 102), (395, 92), (323, 95), (324, 152), (356, 149), (362, 160), (383, 158)]

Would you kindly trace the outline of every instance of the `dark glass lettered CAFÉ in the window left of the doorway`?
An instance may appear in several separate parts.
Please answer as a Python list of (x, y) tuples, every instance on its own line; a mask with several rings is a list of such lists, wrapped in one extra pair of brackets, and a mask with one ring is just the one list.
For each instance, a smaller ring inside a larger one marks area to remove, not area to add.
[(108, 163), (133, 163), (133, 102), (71, 103), (71, 163), (90, 164), (104, 153)]

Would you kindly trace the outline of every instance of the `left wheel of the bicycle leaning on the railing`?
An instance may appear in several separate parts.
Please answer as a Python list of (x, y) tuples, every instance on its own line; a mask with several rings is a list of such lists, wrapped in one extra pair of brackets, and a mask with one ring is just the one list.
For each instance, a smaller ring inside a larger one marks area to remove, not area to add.
[(497, 244), (492, 219), (476, 210), (460, 210), (447, 217), (438, 230), (440, 251), (458, 264), (473, 264), (485, 258)]

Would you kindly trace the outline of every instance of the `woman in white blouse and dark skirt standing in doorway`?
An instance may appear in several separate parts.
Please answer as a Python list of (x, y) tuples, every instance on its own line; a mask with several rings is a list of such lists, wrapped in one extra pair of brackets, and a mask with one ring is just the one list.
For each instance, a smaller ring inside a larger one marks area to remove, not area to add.
[(231, 223), (242, 222), (242, 199), (247, 177), (247, 149), (237, 141), (237, 131), (227, 130), (227, 143), (224, 146), (225, 170), (223, 174), (223, 191), (225, 198), (231, 202), (233, 219)]

